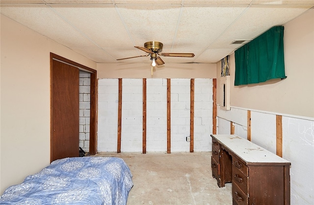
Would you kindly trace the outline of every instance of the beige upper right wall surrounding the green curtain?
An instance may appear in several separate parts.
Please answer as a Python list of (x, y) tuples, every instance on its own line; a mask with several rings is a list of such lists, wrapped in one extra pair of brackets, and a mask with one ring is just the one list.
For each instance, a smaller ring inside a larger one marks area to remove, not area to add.
[[(284, 34), (284, 80), (234, 86), (235, 55), (230, 56), (231, 106), (314, 117), (314, 9), (287, 23)], [(218, 79), (220, 63), (217, 63)], [(217, 84), (219, 86), (219, 84)], [(217, 96), (220, 95), (217, 89)], [(217, 104), (219, 104), (217, 97)]]

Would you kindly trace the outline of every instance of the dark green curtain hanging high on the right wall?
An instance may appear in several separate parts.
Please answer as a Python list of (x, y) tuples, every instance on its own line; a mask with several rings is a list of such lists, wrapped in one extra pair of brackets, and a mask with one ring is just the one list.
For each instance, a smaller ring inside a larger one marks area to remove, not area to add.
[(235, 86), (287, 78), (284, 26), (275, 26), (235, 50)]

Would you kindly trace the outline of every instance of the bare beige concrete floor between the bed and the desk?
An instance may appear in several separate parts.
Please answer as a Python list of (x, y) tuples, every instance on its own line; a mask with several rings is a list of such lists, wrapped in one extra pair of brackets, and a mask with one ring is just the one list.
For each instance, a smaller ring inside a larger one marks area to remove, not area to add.
[(131, 169), (133, 183), (127, 205), (232, 205), (232, 184), (219, 188), (211, 176), (211, 152), (109, 153)]

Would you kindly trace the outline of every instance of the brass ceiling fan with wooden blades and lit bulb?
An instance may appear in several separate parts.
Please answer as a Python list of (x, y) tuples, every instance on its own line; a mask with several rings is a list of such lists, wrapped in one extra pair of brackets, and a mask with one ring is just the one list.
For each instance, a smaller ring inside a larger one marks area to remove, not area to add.
[(162, 46), (163, 46), (163, 44), (160, 42), (149, 41), (149, 42), (146, 42), (144, 44), (144, 47), (134, 46), (134, 47), (148, 53), (147, 55), (133, 56), (133, 57), (128, 57), (128, 58), (120, 58), (120, 59), (117, 59), (117, 61), (130, 59), (130, 58), (137, 58), (137, 57), (146, 57), (146, 56), (151, 55), (152, 66), (155, 67), (156, 65), (160, 66), (160, 65), (165, 63), (157, 55), (166, 56), (166, 57), (194, 57), (195, 56), (194, 53), (160, 53), (159, 54), (159, 52), (162, 51)]

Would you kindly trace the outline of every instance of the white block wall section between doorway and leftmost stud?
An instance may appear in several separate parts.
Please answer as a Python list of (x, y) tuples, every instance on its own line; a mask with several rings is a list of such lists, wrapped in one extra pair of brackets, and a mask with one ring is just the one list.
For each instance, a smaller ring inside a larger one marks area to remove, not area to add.
[(119, 80), (98, 81), (97, 151), (116, 152), (118, 133)]

